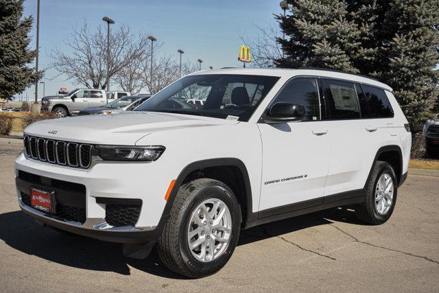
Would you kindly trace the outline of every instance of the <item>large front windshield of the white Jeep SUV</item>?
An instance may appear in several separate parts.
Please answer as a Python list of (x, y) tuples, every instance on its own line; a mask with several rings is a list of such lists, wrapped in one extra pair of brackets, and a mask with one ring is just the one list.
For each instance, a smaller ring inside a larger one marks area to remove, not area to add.
[(261, 75), (189, 75), (134, 110), (248, 121), (278, 79)]

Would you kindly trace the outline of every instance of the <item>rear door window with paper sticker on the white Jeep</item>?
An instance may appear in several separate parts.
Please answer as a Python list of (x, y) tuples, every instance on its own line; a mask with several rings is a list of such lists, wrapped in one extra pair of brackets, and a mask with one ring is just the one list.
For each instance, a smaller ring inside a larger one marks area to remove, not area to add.
[(352, 82), (323, 80), (331, 119), (359, 119), (357, 93)]

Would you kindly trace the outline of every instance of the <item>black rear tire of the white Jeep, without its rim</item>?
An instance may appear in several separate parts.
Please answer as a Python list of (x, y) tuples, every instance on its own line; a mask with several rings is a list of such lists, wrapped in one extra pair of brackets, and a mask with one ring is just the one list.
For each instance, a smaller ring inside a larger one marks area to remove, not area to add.
[[(375, 189), (377, 188), (378, 180), (383, 173), (387, 173), (390, 175), (390, 177), (392, 177), (394, 187), (392, 204), (388, 212), (385, 213), (385, 215), (381, 215), (375, 207)], [(396, 204), (397, 194), (398, 183), (396, 181), (396, 175), (392, 165), (387, 162), (377, 161), (372, 169), (372, 174), (368, 182), (366, 183), (366, 188), (364, 191), (364, 202), (355, 206), (355, 215), (357, 215), (357, 218), (360, 221), (366, 222), (368, 224), (383, 224), (387, 220), (389, 220), (390, 216), (393, 213)]]

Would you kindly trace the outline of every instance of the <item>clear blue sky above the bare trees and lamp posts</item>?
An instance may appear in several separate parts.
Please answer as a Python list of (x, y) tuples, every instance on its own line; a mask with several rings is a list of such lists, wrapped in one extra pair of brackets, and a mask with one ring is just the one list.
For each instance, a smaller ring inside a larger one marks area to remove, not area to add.
[[(132, 32), (148, 32), (155, 36), (165, 54), (185, 51), (184, 60), (201, 58), (204, 69), (212, 66), (237, 67), (240, 36), (257, 34), (257, 24), (268, 26), (273, 13), (280, 13), (280, 0), (40, 0), (40, 68), (49, 67), (49, 54), (58, 47), (69, 51), (63, 41), (69, 38), (72, 27), (84, 20), (93, 28), (105, 25), (103, 16), (124, 23)], [(35, 18), (32, 30), (32, 47), (35, 47), (36, 0), (25, 1), (24, 16)], [(73, 89), (65, 78), (54, 78), (54, 71), (47, 71), (46, 95), (54, 95), (60, 87)], [(113, 86), (112, 89), (115, 89)], [(27, 89), (29, 99), (34, 98), (34, 87)], [(25, 97), (26, 92), (23, 93)], [(43, 85), (38, 86), (39, 97)]]

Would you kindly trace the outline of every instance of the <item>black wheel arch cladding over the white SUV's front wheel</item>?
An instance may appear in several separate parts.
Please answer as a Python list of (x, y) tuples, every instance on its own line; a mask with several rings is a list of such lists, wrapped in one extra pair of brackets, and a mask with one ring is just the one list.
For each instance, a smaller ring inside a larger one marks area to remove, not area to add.
[(207, 159), (187, 165), (176, 179), (163, 215), (169, 215), (180, 186), (197, 178), (211, 178), (228, 185), (241, 207), (242, 222), (246, 223), (254, 220), (254, 214), (252, 213), (252, 191), (248, 171), (246, 165), (241, 160), (235, 158)]

